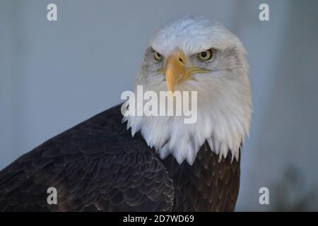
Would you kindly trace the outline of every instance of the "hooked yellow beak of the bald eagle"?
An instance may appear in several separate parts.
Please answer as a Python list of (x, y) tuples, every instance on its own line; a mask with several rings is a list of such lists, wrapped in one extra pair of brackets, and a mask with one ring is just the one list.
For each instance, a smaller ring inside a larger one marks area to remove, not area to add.
[(186, 79), (185, 56), (180, 50), (170, 52), (165, 61), (165, 80), (167, 90), (175, 91), (175, 84)]

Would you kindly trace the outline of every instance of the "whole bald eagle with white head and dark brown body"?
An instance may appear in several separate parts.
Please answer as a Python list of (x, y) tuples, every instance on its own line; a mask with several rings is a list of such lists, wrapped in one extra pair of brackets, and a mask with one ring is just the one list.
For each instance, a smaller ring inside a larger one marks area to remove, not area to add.
[(2, 169), (0, 211), (233, 210), (252, 112), (245, 54), (215, 21), (168, 23), (149, 42), (136, 85), (197, 91), (196, 122), (123, 116), (126, 100)]

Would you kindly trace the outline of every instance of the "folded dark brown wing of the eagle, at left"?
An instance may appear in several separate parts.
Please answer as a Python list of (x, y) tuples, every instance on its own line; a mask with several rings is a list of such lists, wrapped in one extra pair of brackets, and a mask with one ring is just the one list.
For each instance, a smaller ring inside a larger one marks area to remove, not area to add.
[[(0, 172), (0, 210), (172, 210), (167, 169), (131, 138), (117, 105), (46, 141)], [(47, 189), (57, 191), (49, 204)]]

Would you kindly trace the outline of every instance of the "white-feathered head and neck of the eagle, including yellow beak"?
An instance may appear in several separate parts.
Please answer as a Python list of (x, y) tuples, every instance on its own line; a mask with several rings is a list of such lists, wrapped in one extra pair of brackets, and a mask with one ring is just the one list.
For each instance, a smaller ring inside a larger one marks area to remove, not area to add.
[[(205, 142), (220, 157), (238, 159), (252, 112), (248, 64), (242, 42), (220, 23), (185, 17), (153, 35), (136, 77), (143, 91), (196, 91), (197, 118), (124, 116), (161, 158), (172, 154), (190, 165)], [(142, 101), (137, 98), (137, 101)], [(129, 107), (129, 100), (123, 107)], [(162, 106), (161, 106), (162, 107)], [(160, 105), (159, 105), (160, 108)]]

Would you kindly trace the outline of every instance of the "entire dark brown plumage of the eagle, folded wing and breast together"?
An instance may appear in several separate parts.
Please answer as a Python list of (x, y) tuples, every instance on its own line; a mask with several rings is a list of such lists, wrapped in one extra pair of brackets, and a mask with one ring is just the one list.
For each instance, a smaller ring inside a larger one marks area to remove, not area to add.
[[(233, 210), (240, 162), (204, 145), (194, 165), (165, 160), (122, 124), (120, 105), (18, 158), (0, 172), (0, 211)], [(57, 189), (57, 205), (47, 189)]]

